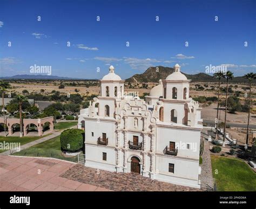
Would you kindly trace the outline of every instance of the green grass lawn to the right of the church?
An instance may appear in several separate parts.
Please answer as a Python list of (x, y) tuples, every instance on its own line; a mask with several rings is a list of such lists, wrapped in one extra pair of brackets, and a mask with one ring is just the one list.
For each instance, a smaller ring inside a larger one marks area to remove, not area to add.
[(218, 156), (211, 160), (218, 191), (256, 191), (256, 173), (244, 161)]

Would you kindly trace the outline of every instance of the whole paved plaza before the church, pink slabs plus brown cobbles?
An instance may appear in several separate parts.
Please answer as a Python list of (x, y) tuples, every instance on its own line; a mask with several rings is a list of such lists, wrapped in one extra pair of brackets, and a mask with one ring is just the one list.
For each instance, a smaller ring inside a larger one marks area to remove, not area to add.
[(136, 173), (116, 173), (58, 159), (0, 155), (0, 191), (200, 191)]

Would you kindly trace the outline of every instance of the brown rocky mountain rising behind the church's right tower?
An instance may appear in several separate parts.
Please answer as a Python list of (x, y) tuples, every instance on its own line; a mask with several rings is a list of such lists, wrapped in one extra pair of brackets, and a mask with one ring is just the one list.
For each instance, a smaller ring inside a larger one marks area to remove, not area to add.
[[(126, 82), (129, 83), (142, 83), (142, 82), (154, 82), (158, 83), (159, 79), (165, 79), (174, 69), (164, 66), (150, 67), (142, 74), (135, 74), (131, 78), (126, 79)], [(183, 73), (183, 72), (181, 72)], [(191, 79), (192, 82), (218, 82), (217, 78), (214, 78), (206, 73), (200, 72), (194, 75), (183, 73), (187, 79)], [(221, 79), (221, 82), (225, 82), (225, 79)], [(230, 80), (230, 83), (248, 83), (247, 79), (243, 77), (234, 77)], [(253, 80), (253, 83), (256, 83), (256, 80)]]

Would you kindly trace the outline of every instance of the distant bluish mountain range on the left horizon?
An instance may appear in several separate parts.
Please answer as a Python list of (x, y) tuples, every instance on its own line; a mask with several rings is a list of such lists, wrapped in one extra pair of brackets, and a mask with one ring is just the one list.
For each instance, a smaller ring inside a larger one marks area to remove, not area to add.
[(50, 80), (79, 80), (80, 78), (69, 78), (61, 76), (48, 76), (48, 75), (15, 75), (9, 77), (0, 77), (0, 79), (50, 79)]

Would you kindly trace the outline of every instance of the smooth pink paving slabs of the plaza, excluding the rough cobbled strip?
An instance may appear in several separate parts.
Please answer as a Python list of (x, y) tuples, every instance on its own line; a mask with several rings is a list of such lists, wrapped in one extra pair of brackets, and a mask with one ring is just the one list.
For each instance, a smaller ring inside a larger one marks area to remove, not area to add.
[(110, 191), (60, 177), (75, 165), (52, 158), (0, 156), (0, 191)]

